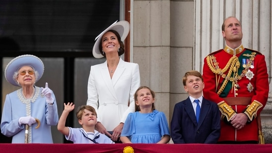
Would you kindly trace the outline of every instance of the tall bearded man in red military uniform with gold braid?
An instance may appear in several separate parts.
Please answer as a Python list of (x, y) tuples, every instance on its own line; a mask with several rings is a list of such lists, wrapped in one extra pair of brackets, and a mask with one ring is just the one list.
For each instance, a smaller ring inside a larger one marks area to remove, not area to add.
[(242, 45), (241, 23), (228, 17), (222, 24), (224, 49), (204, 59), (206, 99), (218, 103), (221, 112), (221, 144), (264, 143), (260, 113), (268, 100), (265, 56)]

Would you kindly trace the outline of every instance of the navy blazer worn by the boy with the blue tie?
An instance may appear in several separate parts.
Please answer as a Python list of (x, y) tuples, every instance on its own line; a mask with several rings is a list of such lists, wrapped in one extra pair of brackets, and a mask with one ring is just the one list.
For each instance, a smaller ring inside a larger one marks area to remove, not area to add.
[(203, 98), (199, 123), (189, 97), (176, 103), (170, 129), (174, 144), (216, 144), (220, 136), (220, 113), (217, 103)]

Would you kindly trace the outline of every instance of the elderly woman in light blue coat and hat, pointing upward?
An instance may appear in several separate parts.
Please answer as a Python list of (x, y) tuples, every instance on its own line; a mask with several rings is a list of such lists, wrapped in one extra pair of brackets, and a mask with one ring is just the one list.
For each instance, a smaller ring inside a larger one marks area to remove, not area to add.
[[(5, 97), (1, 132), (12, 137), (12, 143), (53, 143), (51, 126), (58, 123), (53, 91), (34, 84), (44, 73), (42, 60), (34, 55), (20, 55), (5, 67), (6, 80), (21, 86)], [(26, 133), (26, 136), (25, 136)]]

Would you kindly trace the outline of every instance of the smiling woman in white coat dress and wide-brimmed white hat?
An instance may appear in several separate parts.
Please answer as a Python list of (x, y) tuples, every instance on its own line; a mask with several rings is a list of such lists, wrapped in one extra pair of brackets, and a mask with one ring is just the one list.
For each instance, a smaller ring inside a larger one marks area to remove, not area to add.
[(123, 61), (122, 41), (129, 33), (127, 21), (113, 23), (95, 42), (93, 55), (106, 57), (102, 64), (91, 66), (88, 80), (87, 105), (97, 111), (96, 129), (108, 135), (115, 143), (119, 140), (128, 113), (135, 111), (133, 95), (140, 87), (137, 63)]

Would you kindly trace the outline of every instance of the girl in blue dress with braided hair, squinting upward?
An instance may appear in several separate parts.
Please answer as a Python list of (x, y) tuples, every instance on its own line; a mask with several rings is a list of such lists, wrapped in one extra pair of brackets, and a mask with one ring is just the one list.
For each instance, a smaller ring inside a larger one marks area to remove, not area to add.
[(166, 144), (170, 132), (165, 114), (155, 109), (155, 93), (142, 86), (134, 94), (135, 112), (129, 113), (121, 133), (123, 143)]

